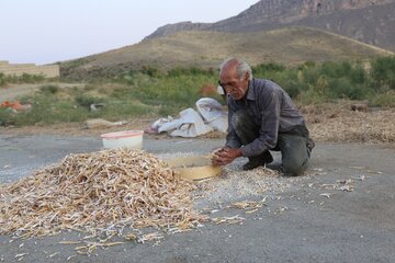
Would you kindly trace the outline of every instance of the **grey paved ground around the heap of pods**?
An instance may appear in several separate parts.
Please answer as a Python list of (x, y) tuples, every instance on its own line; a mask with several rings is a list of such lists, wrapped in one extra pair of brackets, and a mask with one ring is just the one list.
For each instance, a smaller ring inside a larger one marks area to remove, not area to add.
[[(146, 138), (144, 147), (157, 155), (206, 153), (222, 144)], [(14, 181), (67, 153), (99, 149), (95, 137), (0, 135), (0, 180)], [(127, 242), (69, 262), (395, 262), (394, 156), (395, 149), (383, 146), (317, 144), (308, 175), (281, 179), (289, 187), (261, 196), (227, 193), (222, 203), (206, 201), (218, 209), (213, 216), (239, 215), (246, 218), (242, 225), (207, 222), (195, 231), (168, 235), (158, 244)], [(255, 214), (224, 209), (234, 201), (264, 196), (267, 206)], [(13, 241), (0, 236), (0, 260), (66, 262), (76, 245), (58, 242), (78, 238), (77, 232)]]

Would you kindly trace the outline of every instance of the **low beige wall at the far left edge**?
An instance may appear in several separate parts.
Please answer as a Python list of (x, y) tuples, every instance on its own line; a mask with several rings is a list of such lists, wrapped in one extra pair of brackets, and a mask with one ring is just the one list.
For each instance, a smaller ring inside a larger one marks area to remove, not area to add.
[(9, 64), (0, 60), (0, 72), (4, 75), (22, 76), (27, 75), (43, 75), (45, 78), (59, 77), (58, 65), (36, 66), (34, 64)]

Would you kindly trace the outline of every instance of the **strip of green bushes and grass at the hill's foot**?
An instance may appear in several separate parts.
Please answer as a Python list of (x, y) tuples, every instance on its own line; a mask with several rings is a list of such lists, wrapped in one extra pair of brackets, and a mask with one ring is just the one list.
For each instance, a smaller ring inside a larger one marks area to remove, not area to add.
[[(282, 85), (296, 104), (320, 105), (339, 99), (365, 101), (371, 106), (395, 106), (395, 57), (369, 61), (306, 61), (297, 66), (260, 64), (252, 68), (255, 78), (272, 79)], [(82, 88), (60, 89), (43, 84), (30, 96), (31, 111), (14, 113), (0, 108), (1, 125), (41, 125), (83, 122), (102, 117), (109, 121), (133, 117), (177, 115), (193, 107), (202, 98), (202, 88), (215, 87), (217, 70), (155, 67), (126, 71), (113, 78), (97, 78)], [(34, 79), (34, 77), (31, 77)], [(21, 80), (22, 81), (22, 80)], [(210, 96), (221, 98), (211, 93)], [(99, 111), (90, 105), (103, 103)]]

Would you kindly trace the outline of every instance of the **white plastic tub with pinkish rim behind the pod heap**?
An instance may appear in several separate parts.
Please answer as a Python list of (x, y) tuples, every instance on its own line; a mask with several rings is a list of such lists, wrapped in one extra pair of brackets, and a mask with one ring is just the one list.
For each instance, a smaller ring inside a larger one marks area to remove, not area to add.
[(144, 130), (123, 130), (102, 134), (103, 147), (105, 149), (129, 148), (142, 149)]

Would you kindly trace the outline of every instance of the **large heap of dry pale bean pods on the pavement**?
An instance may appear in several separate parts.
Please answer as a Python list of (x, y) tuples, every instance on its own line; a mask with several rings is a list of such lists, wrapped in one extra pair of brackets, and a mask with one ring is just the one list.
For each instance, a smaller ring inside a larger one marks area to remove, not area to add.
[(192, 184), (144, 151), (69, 155), (56, 165), (0, 186), (0, 233), (191, 228), (204, 218), (193, 210), (192, 190)]

